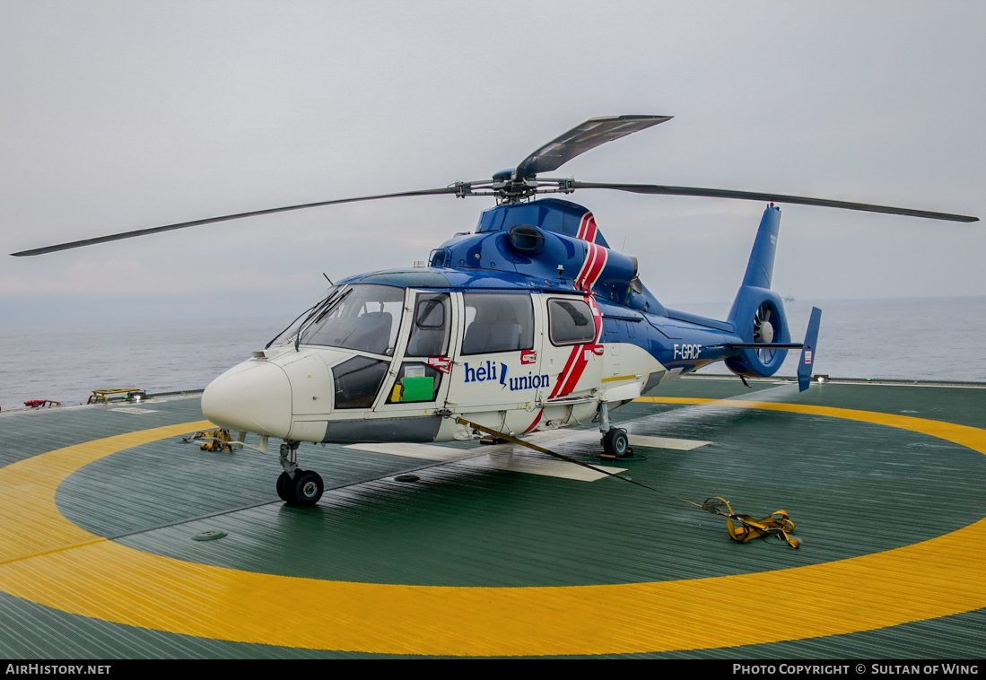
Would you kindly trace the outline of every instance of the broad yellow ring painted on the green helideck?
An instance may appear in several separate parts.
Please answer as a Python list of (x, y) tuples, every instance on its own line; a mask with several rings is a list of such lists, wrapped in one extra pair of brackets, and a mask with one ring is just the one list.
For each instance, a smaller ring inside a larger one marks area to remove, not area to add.
[[(666, 403), (713, 399), (645, 397)], [(923, 433), (986, 453), (986, 431), (867, 411), (756, 401)], [(146, 430), (0, 469), (0, 589), (73, 614), (182, 635), (404, 654), (599, 654), (840, 635), (986, 607), (986, 519), (872, 555), (717, 578), (616, 585), (450, 587), (271, 576), (107, 541), (55, 508), (73, 471), (211, 427)]]

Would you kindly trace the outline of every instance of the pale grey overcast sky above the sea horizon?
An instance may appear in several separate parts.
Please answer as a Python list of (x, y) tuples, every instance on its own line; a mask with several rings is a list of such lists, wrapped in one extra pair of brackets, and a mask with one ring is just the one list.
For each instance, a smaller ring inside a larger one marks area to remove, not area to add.
[[(6, 253), (516, 166), (587, 118), (667, 123), (556, 174), (986, 217), (981, 2), (0, 3), (0, 327), (293, 317), (492, 199), (389, 199)], [(585, 190), (666, 304), (735, 295), (764, 206)], [(774, 289), (986, 295), (986, 230), (782, 206)]]

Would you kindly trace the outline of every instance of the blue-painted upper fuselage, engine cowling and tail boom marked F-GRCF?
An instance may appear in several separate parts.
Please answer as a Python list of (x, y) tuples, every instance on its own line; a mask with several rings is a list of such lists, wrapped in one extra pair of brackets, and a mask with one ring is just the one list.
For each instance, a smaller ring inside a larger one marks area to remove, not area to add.
[[(772, 267), (772, 245), (776, 242), (779, 211), (771, 211), (777, 209), (768, 208), (764, 215), (758, 245), (754, 246), (755, 262), (750, 267), (762, 269), (762, 265), (766, 264), (763, 260), (767, 260), (768, 255), (770, 262), (767, 268)], [(589, 241), (577, 236), (587, 213), (589, 210), (583, 206), (558, 199), (498, 206), (482, 214), (475, 234), (457, 235), (433, 251), (430, 260), (433, 266), (360, 274), (340, 283), (376, 283), (458, 292), (528, 291), (586, 295), (585, 291), (576, 288), (575, 282), (583, 271), (591, 247)], [(512, 247), (509, 233), (518, 225), (541, 230), (544, 237), (542, 249), (534, 254), (523, 254)], [(770, 238), (767, 232), (775, 238)], [(630, 271), (626, 263), (631, 258), (609, 250), (598, 230), (592, 238), (593, 244), (606, 248), (607, 252), (607, 264), (592, 288), (602, 312), (601, 342), (637, 345), (669, 370), (680, 368), (682, 374), (713, 362), (736, 359), (743, 356), (743, 352), (751, 352), (730, 349), (727, 345), (751, 342), (752, 318), (740, 318), (738, 308), (749, 315), (755, 311), (758, 301), (772, 301), (777, 297), (776, 293), (760, 287), (765, 278), (762, 274), (755, 281), (752, 276), (747, 276), (749, 283), (754, 285), (750, 286), (744, 280), (747, 285), (740, 288), (730, 320), (719, 321), (666, 308), (639, 280), (632, 286), (636, 263)], [(771, 247), (764, 247), (765, 244)], [(763, 250), (769, 252), (764, 253)], [(434, 266), (438, 262), (442, 266)], [(766, 283), (769, 286), (769, 280)], [(783, 342), (788, 342), (786, 326), (785, 321), (781, 326), (785, 336)], [(741, 366), (746, 374), (772, 374), (776, 371), (773, 364), (780, 366), (785, 351), (780, 350), (776, 354), (780, 361), (771, 362), (771, 367), (767, 369), (757, 365), (759, 371), (754, 372), (746, 369), (746, 364)], [(773, 370), (769, 371), (771, 368)]]

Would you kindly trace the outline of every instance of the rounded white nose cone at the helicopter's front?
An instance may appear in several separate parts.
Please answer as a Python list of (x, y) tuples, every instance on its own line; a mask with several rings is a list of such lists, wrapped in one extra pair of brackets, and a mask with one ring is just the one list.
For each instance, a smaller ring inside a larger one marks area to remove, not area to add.
[(228, 430), (287, 438), (291, 430), (291, 382), (265, 361), (244, 362), (209, 383), (202, 414)]

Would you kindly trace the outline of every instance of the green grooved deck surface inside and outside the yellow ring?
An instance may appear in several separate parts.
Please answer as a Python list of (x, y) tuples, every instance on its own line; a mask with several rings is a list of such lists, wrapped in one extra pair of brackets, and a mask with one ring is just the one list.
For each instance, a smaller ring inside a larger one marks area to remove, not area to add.
[[(738, 397), (912, 415), (986, 429), (986, 389), (682, 379), (657, 396)], [(201, 419), (197, 398), (0, 417), (0, 466), (79, 442)], [(613, 411), (632, 434), (713, 442), (690, 451), (637, 446), (634, 480), (701, 502), (728, 498), (764, 516), (783, 508), (800, 550), (738, 544), (724, 521), (614, 479), (577, 482), (462, 463), (392, 477), (425, 461), (303, 444), (326, 492), (283, 506), (276, 455), (206, 452), (179, 438), (134, 446), (72, 474), (56, 503), (83, 528), (138, 550), (265, 574), (450, 586), (632, 583), (788, 569), (934, 538), (986, 516), (986, 458), (919, 433), (800, 413), (632, 403)], [(474, 443), (446, 444), (460, 448)], [(555, 450), (599, 463), (598, 446)], [(536, 455), (536, 454), (535, 454)], [(228, 536), (192, 541), (217, 529)], [(948, 575), (943, 575), (947, 578)], [(866, 587), (846, 583), (847, 588)], [(710, 627), (715, 621), (709, 622)], [(986, 610), (843, 636), (629, 656), (979, 657)], [(332, 650), (230, 643), (89, 619), (0, 593), (0, 654), (10, 657), (343, 657)]]

